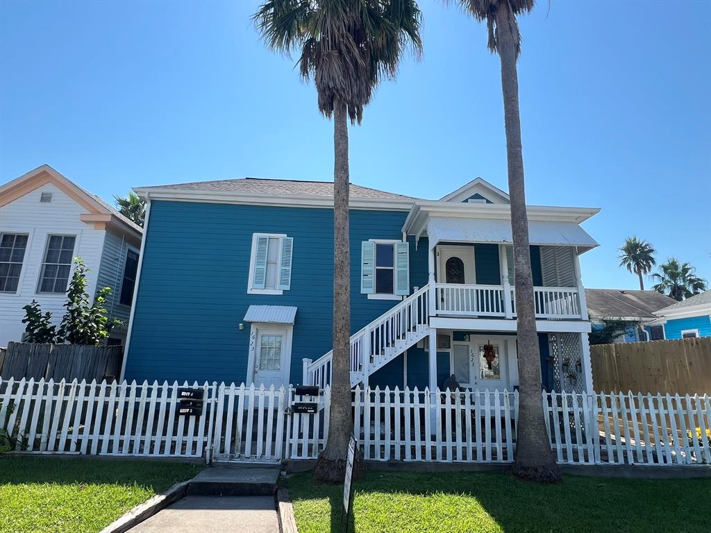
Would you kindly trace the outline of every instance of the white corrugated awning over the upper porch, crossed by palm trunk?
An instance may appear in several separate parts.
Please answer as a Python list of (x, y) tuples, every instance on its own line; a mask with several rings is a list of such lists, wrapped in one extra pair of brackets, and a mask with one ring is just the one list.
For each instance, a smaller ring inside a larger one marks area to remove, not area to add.
[[(430, 247), (437, 242), (513, 242), (511, 222), (499, 219), (429, 217), (427, 235)], [(528, 239), (531, 244), (577, 246), (584, 250), (598, 245), (575, 222), (529, 220)]]

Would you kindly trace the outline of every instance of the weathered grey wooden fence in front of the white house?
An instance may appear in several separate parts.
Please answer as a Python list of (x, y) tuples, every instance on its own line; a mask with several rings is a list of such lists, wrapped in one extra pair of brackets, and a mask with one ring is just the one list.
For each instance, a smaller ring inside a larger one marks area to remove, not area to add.
[(121, 374), (123, 346), (9, 343), (0, 376), (39, 379), (114, 379)]

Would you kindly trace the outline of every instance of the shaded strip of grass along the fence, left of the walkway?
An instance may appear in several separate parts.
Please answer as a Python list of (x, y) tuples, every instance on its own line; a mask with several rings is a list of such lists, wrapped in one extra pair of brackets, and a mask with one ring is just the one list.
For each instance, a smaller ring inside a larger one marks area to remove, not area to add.
[(0, 456), (0, 485), (141, 485), (158, 493), (202, 469), (201, 465), (169, 461), (4, 455)]

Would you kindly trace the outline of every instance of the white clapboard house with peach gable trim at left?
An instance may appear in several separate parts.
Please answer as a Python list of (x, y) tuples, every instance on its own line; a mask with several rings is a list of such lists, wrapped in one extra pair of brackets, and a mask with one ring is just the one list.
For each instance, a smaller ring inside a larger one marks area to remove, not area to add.
[[(36, 300), (60, 323), (73, 258), (90, 268), (88, 292), (108, 286), (110, 317), (128, 324), (141, 227), (48, 165), (0, 187), (0, 346), (21, 340), (23, 306)], [(126, 328), (109, 343), (123, 343)]]

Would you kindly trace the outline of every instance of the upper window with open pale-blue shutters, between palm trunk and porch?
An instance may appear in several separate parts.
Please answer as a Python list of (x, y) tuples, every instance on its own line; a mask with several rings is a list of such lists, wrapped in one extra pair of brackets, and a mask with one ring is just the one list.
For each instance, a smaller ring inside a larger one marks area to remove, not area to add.
[(401, 241), (363, 241), (360, 292), (368, 298), (400, 299), (410, 294), (410, 245)]

